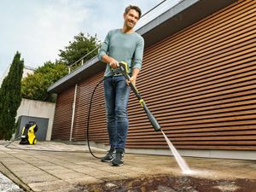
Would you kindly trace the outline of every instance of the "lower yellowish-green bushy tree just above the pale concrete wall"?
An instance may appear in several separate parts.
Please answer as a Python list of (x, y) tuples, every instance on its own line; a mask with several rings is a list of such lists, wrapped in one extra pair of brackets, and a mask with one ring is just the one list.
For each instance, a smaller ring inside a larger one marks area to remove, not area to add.
[(47, 89), (55, 81), (67, 75), (67, 65), (61, 61), (47, 61), (43, 67), (38, 67), (33, 74), (28, 74), (21, 83), (21, 96), (26, 99), (43, 102), (55, 102)]

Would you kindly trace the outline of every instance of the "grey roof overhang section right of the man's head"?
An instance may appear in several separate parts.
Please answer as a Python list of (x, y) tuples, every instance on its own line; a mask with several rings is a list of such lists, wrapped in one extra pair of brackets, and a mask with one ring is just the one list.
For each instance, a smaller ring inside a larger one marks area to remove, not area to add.
[(212, 15), (237, 0), (183, 0), (137, 30), (145, 39), (145, 48)]

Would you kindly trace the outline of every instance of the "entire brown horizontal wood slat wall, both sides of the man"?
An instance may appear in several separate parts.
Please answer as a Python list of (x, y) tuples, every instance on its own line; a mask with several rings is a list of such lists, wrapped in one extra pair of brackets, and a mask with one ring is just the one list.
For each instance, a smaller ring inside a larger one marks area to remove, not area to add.
[[(177, 148), (256, 149), (255, 18), (255, 3), (238, 1), (145, 49), (137, 88)], [(75, 141), (87, 139), (90, 96), (102, 76), (79, 83)], [(71, 92), (58, 96), (55, 138), (70, 130), (70, 122), (64, 128), (61, 121), (71, 116), (66, 106), (73, 102)], [(167, 148), (133, 93), (128, 108), (126, 147)], [(105, 113), (101, 84), (92, 102), (90, 140), (108, 144)]]

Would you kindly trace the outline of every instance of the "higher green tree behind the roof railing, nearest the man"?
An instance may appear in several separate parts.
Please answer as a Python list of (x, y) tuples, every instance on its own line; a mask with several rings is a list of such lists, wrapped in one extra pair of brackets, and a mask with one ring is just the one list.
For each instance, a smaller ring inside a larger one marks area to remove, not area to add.
[(87, 34), (87, 37), (84, 37), (84, 33), (80, 32), (79, 35), (74, 37), (73, 42), (69, 42), (69, 45), (65, 47), (64, 50), (60, 49), (59, 56), (61, 61), (67, 64), (67, 66), (72, 65), (75, 61), (81, 59), (84, 55), (89, 55), (84, 58), (84, 62), (90, 60), (90, 58), (97, 55), (97, 49), (100, 45), (100, 41), (97, 40), (96, 35), (94, 37)]

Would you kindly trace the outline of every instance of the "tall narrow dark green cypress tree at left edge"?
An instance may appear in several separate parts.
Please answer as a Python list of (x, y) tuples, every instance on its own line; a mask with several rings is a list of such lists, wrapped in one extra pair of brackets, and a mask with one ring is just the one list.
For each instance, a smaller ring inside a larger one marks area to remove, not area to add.
[(15, 117), (20, 107), (20, 82), (23, 74), (24, 61), (16, 52), (9, 73), (0, 88), (0, 139), (9, 140), (15, 132)]

